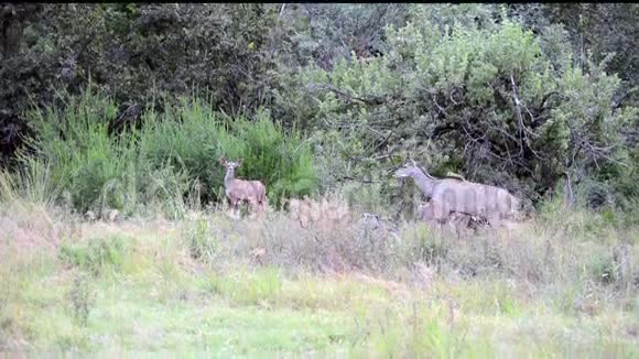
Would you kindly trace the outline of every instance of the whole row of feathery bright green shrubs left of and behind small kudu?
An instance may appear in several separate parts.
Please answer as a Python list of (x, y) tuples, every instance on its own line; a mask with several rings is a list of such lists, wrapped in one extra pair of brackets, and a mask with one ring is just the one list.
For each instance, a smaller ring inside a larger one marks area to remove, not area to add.
[(118, 209), (131, 216), (159, 209), (180, 217), (187, 200), (223, 197), (220, 157), (243, 159), (238, 175), (262, 181), (275, 204), (315, 186), (310, 145), (299, 134), (284, 133), (266, 113), (254, 121), (229, 119), (197, 98), (184, 98), (166, 105), (163, 113), (147, 111), (140, 129), (113, 134), (109, 123), (118, 107), (107, 96), (87, 88), (63, 99), (64, 108), (30, 112), (37, 133), (30, 148), (36, 155), (23, 152), (21, 160), (28, 172), (46, 163), (47, 183), (36, 191), (55, 200), (66, 196), (80, 214)]

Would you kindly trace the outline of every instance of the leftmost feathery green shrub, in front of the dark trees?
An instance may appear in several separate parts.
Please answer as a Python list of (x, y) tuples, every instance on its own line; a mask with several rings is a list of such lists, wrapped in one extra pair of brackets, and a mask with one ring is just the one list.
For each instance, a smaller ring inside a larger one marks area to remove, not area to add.
[(34, 148), (51, 163), (53, 183), (73, 188), (73, 204), (84, 213), (98, 204), (108, 184), (112, 187), (122, 180), (134, 151), (126, 139), (121, 143), (109, 139), (108, 123), (117, 111), (112, 101), (95, 96), (90, 88), (66, 100), (65, 109), (46, 107), (31, 112), (39, 135)]

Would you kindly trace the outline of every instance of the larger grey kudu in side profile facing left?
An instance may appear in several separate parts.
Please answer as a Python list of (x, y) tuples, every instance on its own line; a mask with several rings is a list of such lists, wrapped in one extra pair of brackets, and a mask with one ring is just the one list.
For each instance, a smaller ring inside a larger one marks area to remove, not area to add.
[(396, 177), (412, 177), (420, 189), (434, 202), (433, 219), (445, 221), (451, 214), (465, 214), (486, 219), (497, 226), (512, 218), (519, 210), (519, 200), (508, 191), (474, 183), (461, 177), (434, 178), (413, 161), (394, 173)]

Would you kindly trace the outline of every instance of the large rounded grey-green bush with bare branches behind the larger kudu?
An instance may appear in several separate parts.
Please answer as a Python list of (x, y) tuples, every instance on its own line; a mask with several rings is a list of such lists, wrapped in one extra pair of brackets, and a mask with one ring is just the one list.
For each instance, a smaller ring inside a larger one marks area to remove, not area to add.
[(603, 165), (625, 173), (614, 181), (631, 174), (618, 167), (626, 157), (619, 144), (637, 111), (613, 107), (619, 80), (605, 62), (587, 72), (575, 66), (557, 32), (430, 19), (419, 13), (390, 26), (383, 56), (301, 74), (314, 112), (306, 98), (291, 100), (315, 128), (364, 142), (365, 157), (386, 154), (364, 163), (378, 172), (412, 154), (435, 174), (463, 173), (532, 199), (561, 178), (598, 178)]

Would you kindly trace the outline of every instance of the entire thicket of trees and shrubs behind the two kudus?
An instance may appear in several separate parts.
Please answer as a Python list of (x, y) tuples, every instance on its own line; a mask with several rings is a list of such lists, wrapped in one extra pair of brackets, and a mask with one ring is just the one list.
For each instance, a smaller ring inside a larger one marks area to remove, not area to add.
[(559, 194), (628, 210), (638, 14), (630, 3), (1, 4), (2, 166), (51, 168), (51, 192), (83, 213), (216, 202), (220, 156), (243, 156), (239, 174), (277, 205), (340, 191), (399, 210), (389, 204), (416, 191), (389, 173), (410, 156), (529, 207)]

